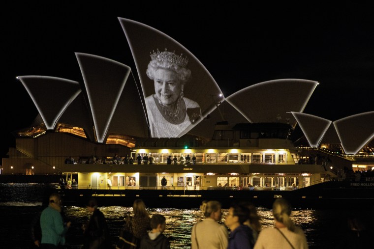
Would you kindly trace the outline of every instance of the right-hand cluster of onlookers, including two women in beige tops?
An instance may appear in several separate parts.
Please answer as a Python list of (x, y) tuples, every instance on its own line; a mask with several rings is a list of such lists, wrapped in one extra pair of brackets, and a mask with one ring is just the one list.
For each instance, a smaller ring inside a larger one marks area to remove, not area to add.
[[(289, 218), (291, 207), (285, 199), (278, 198), (273, 204), (275, 227), (263, 230), (260, 217), (249, 202), (233, 202), (230, 205), (224, 222), (226, 226), (218, 223), (222, 216), (218, 201), (203, 202), (200, 209), (206, 218), (192, 227), (191, 249), (308, 248), (303, 230)], [(275, 236), (277, 239), (273, 239)]]

